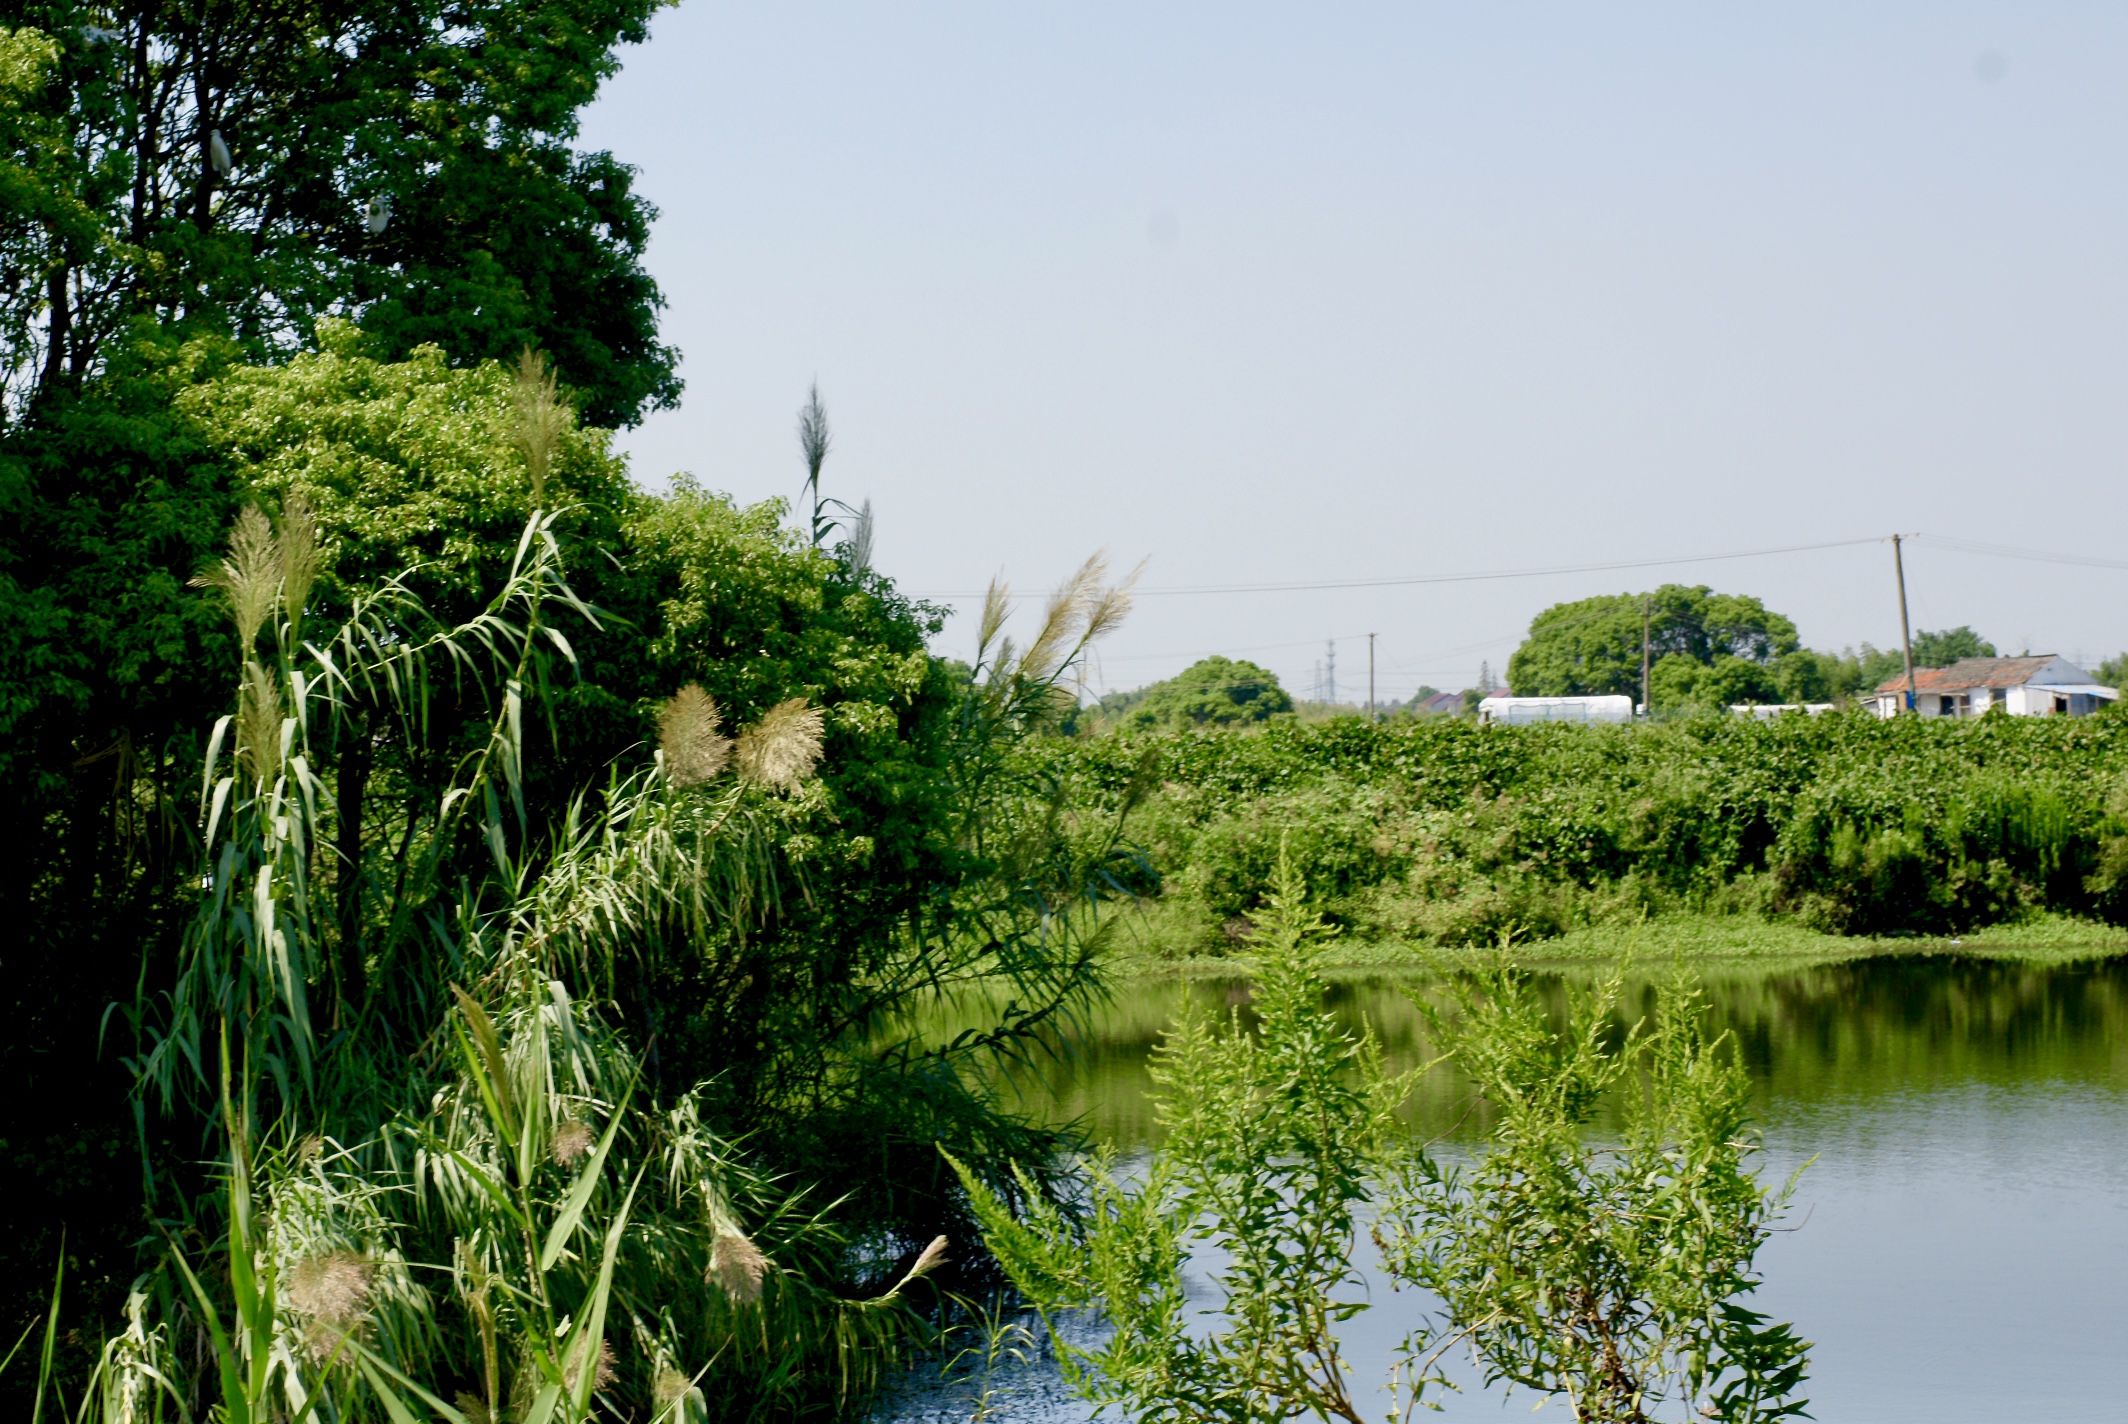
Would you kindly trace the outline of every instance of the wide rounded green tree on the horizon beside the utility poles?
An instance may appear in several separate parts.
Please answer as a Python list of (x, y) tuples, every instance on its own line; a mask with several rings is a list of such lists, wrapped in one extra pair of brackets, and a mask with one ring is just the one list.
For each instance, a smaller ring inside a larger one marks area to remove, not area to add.
[(1507, 683), (1522, 696), (1639, 700), (1643, 626), (1653, 660), (1679, 656), (1702, 668), (1724, 658), (1764, 666), (1796, 651), (1796, 626), (1758, 598), (1664, 583), (1653, 594), (1605, 594), (1545, 609), (1509, 660)]

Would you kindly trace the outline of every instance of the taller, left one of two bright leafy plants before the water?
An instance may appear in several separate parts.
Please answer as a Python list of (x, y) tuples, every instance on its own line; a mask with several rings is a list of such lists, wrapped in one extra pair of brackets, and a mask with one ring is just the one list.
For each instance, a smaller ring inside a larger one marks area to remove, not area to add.
[[(1151, 1071), (1166, 1143), (1143, 1181), (1119, 1179), (1107, 1158), (1087, 1164), (1083, 1237), (1049, 1205), (1017, 1220), (955, 1162), (992, 1252), (1051, 1324), (1066, 1379), (1134, 1420), (1368, 1418), (1336, 1326), (1366, 1309), (1353, 1298), (1356, 1220), (1409, 1081), (1321, 1011), (1304, 903), (1287, 871), (1256, 960), (1260, 1037), (1238, 1015), (1226, 1032), (1198, 1013), (1170, 1028)], [(1204, 1247), (1224, 1262), (1211, 1330), (1183, 1290), (1183, 1264)], [(1113, 1332), (1077, 1345), (1053, 1330), (1066, 1309), (1100, 1309)]]

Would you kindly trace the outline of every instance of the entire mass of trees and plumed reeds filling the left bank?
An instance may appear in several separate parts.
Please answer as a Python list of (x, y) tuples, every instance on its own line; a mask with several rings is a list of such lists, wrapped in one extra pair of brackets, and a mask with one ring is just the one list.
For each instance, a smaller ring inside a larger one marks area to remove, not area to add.
[(934, 658), (817, 400), (809, 507), (634, 483), (677, 353), (575, 134), (653, 9), (0, 30), (21, 1418), (845, 1409), (981, 1277), (938, 1145), (1068, 1141), (992, 1066), (1145, 877), (1021, 747), (1128, 598)]

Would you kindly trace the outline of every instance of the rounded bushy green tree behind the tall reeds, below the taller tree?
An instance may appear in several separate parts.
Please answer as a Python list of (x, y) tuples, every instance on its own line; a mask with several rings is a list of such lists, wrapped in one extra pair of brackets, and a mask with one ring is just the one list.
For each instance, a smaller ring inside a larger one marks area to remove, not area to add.
[[(128, 1020), (111, 1007), (160, 1003), (194, 915), (200, 766), (238, 651), (221, 600), (189, 581), (249, 504), (317, 519), (304, 628), (328, 630), (387, 581), (434, 619), (479, 617), (528, 517), (549, 511), (585, 609), (553, 605), (566, 651), (538, 643), (521, 679), (528, 864), (562, 845), (579, 798), (604, 802), (613, 766), (643, 762), (681, 688), (700, 685), (728, 728), (789, 698), (819, 711), (821, 775), (770, 847), (785, 868), (772, 913), (709, 939), (649, 937), (596, 986), (649, 1045), (645, 1092), (713, 1081), (713, 1124), (758, 1135), (794, 1179), (830, 1179), (824, 1201), (849, 1192), (843, 1226), (875, 1243), (951, 1211), (936, 1143), (1047, 1152), (960, 1064), (1036, 1032), (1092, 983), (1092, 960), (1058, 939), (1087, 868), (1049, 856), (1041, 817), (983, 830), (1017, 796), (994, 749), (1049, 705), (1041, 683), (1058, 668), (970, 688), (926, 651), (934, 609), (789, 528), (779, 502), (741, 509), (685, 481), (636, 490), (536, 364), (460, 368), (434, 347), (387, 362), (338, 324), (319, 338), (262, 366), (228, 338), (136, 336), (96, 400), (55, 402), (36, 441), (0, 443), (17, 534), (0, 566), (0, 792), (36, 826), (0, 862), (13, 907), (0, 1071), (17, 1088), (0, 1107), (0, 1171), (34, 1203), (0, 1243), (6, 1279), (49, 1284), (62, 1230), (85, 1309), (132, 1275), (143, 1156)], [(1062, 658), (1058, 636), (1034, 647)], [(415, 1052), (447, 1007), (428, 932), (381, 922), (379, 905), (409, 905), (396, 866), (485, 745), (494, 679), (438, 668), (421, 711), (409, 730), (381, 690), (347, 690), (306, 751), (328, 832), (315, 1017), (372, 1056)], [(453, 847), (413, 924), (455, 924), (458, 888), (492, 873), (481, 843)], [(896, 1045), (898, 1005), (1000, 973), (1009, 1022), (949, 1049)], [(183, 1128), (149, 1120), (168, 1135), (157, 1171), (198, 1158)]]

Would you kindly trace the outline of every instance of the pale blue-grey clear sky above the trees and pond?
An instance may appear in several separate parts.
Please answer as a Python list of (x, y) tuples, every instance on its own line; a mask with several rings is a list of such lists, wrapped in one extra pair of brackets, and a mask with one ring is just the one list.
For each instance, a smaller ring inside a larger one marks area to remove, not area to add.
[(1096, 551), (1094, 690), (1664, 581), (1896, 647), (1892, 532), (1915, 630), (2128, 647), (2128, 6), (681, 0), (581, 143), (662, 213), (636, 479), (794, 500), (817, 381), (941, 653)]

